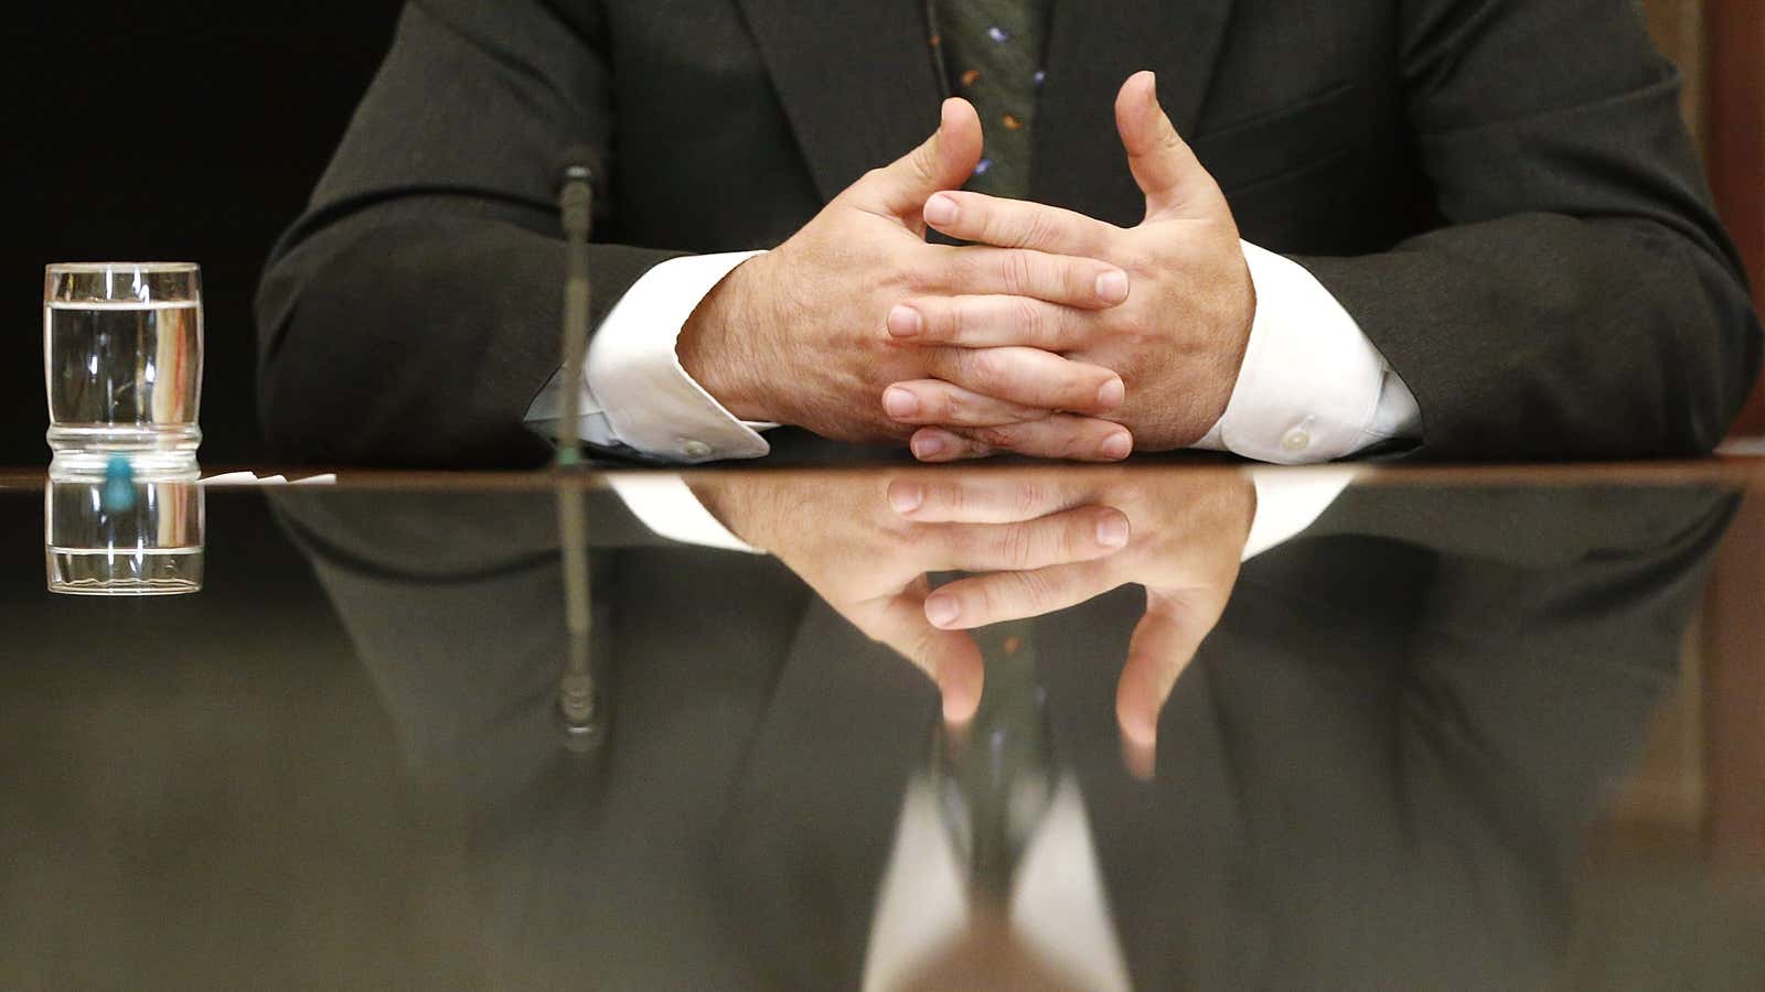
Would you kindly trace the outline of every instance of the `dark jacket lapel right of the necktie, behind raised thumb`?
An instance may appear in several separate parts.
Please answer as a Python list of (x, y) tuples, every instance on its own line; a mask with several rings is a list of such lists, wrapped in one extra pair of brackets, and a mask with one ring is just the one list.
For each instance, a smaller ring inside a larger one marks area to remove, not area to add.
[(1031, 198), (1137, 224), (1145, 199), (1115, 134), (1115, 90), (1153, 69), (1177, 132), (1191, 136), (1230, 16), (1232, 0), (1055, 0)]

